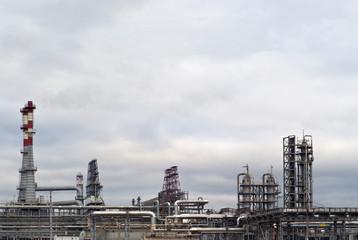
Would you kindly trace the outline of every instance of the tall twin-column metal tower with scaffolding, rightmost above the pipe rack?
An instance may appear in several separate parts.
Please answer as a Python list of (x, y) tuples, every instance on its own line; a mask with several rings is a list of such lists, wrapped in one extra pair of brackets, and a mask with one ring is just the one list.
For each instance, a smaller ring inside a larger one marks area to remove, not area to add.
[(312, 207), (312, 136), (283, 138), (283, 183), (285, 208)]

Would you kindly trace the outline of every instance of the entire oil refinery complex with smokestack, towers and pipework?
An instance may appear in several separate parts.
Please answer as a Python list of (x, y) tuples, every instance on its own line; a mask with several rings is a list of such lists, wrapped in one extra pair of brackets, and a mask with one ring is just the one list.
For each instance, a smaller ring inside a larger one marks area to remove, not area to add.
[[(76, 175), (73, 186), (37, 183), (33, 137), (35, 104), (21, 109), (22, 165), (17, 200), (0, 205), (1, 239), (242, 239), (356, 240), (358, 208), (317, 207), (313, 203), (312, 136), (283, 138), (283, 183), (271, 170), (254, 181), (249, 165), (239, 171), (237, 207), (207, 209), (209, 200), (190, 199), (180, 186), (179, 170), (164, 171), (157, 196), (132, 200), (128, 206), (107, 206), (101, 192), (96, 159), (87, 178)], [(241, 165), (240, 165), (241, 166)], [(84, 183), (84, 179), (87, 179)], [(57, 191), (73, 191), (74, 199), (53, 201)], [(43, 192), (49, 194), (44, 198)], [(282, 199), (282, 204), (278, 200)]]

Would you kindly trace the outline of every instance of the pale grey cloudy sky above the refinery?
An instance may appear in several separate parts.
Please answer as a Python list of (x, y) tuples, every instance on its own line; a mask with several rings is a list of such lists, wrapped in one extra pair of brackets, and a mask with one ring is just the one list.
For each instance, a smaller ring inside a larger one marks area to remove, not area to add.
[(282, 185), (282, 138), (304, 129), (314, 204), (357, 206), (357, 63), (353, 0), (2, 1), (1, 201), (32, 100), (39, 186), (97, 158), (106, 204), (129, 205), (177, 165), (190, 198), (235, 207), (243, 166)]

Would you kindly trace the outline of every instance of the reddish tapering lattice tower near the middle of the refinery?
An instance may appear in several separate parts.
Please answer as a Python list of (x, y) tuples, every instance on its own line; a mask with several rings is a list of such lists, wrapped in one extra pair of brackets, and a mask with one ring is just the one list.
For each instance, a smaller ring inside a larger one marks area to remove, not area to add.
[(159, 202), (174, 203), (176, 200), (187, 199), (187, 193), (180, 189), (178, 167), (173, 166), (165, 170), (163, 188), (159, 192)]

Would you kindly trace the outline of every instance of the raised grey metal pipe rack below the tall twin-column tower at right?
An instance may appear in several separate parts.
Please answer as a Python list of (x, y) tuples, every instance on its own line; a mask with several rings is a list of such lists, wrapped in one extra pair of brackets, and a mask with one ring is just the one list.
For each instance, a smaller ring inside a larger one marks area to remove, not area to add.
[(358, 208), (275, 208), (239, 217), (249, 239), (358, 239)]

